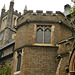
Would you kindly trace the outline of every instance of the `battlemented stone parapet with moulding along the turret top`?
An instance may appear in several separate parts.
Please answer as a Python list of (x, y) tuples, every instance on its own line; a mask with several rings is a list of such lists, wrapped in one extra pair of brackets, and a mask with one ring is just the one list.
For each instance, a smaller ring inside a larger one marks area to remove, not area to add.
[[(20, 18), (18, 18), (18, 24), (17, 26), (20, 26), (23, 23), (30, 23), (30, 22), (46, 22), (46, 23), (64, 23), (67, 24), (68, 19), (64, 16), (64, 14), (60, 11), (56, 11), (56, 13), (53, 13), (53, 11), (46, 11), (46, 13), (43, 13), (42, 10), (36, 10), (36, 12), (33, 12), (33, 10), (29, 10), (25, 12)], [(67, 24), (69, 27), (71, 27), (70, 22)]]

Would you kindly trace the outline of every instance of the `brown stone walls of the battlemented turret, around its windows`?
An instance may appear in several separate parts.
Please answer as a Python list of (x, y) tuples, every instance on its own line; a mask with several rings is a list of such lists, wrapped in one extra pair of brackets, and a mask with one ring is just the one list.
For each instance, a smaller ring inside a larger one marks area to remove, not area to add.
[[(36, 44), (37, 25), (51, 25), (50, 45)], [(61, 47), (57, 52), (58, 49), (55, 46), (69, 37), (72, 37), (71, 24), (60, 12), (44, 14), (42, 11), (37, 11), (34, 14), (31, 11), (23, 15), (18, 19), (12, 74), (16, 72), (17, 51), (23, 48), (21, 75), (55, 75), (59, 65), (56, 56), (60, 51), (62, 52)], [(68, 64), (69, 55), (65, 55), (60, 64), (59, 75), (66, 75), (65, 67)]]

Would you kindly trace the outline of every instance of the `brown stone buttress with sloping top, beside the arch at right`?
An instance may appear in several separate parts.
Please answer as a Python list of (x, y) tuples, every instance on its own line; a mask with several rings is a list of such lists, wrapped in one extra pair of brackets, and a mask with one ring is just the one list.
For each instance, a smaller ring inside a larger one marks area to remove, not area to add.
[(58, 54), (61, 56), (59, 62), (59, 70), (56, 75), (68, 75), (70, 67), (70, 56), (74, 47), (74, 38), (70, 37), (59, 43)]

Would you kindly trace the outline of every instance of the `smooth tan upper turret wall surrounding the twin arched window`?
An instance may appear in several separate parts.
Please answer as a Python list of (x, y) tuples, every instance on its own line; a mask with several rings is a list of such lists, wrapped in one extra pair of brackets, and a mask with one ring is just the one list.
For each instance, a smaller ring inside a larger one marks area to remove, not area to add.
[(51, 45), (58, 44), (61, 40), (72, 36), (70, 29), (54, 23), (26, 23), (17, 29), (15, 49), (25, 45), (36, 44), (36, 25), (51, 25)]

